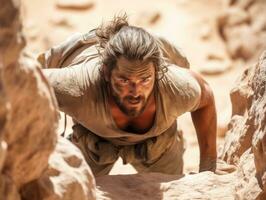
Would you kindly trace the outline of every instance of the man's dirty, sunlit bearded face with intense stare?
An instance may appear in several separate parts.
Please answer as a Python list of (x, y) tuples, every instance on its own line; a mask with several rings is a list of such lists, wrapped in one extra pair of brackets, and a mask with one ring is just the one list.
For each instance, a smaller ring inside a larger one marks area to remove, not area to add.
[(137, 117), (144, 111), (154, 88), (154, 64), (120, 57), (110, 82), (112, 96), (120, 110), (129, 117)]

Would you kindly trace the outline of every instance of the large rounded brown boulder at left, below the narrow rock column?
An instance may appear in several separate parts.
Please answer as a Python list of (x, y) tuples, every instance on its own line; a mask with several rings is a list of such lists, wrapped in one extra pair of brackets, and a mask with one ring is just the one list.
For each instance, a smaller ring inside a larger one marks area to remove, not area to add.
[(58, 115), (54, 94), (38, 65), (23, 57), (3, 70), (10, 118), (3, 130), (8, 144), (5, 172), (19, 188), (47, 167), (56, 142)]

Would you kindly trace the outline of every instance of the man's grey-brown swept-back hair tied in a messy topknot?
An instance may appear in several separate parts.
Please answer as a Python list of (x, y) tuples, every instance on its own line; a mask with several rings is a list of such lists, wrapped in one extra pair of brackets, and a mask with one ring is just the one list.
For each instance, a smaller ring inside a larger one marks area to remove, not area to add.
[(106, 66), (108, 74), (116, 66), (120, 56), (128, 60), (153, 62), (159, 78), (167, 71), (167, 64), (156, 38), (143, 28), (129, 25), (126, 14), (115, 16), (109, 23), (102, 24), (96, 29), (96, 36), (100, 64)]

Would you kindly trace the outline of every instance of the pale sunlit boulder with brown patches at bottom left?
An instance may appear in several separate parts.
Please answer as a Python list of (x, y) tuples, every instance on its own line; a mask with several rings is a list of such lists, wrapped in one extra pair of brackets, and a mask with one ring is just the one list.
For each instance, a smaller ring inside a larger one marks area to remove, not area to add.
[(24, 200), (95, 199), (95, 180), (80, 150), (60, 137), (43, 176), (22, 188)]

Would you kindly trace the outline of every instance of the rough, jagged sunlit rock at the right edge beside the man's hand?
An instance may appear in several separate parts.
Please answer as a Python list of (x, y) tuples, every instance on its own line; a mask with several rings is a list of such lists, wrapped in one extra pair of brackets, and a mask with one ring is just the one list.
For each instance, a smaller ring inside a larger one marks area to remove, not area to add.
[[(243, 105), (235, 109), (227, 133), (224, 145), (223, 159), (229, 163), (237, 164), (239, 160), (245, 160), (243, 153), (252, 149), (256, 167), (255, 177), (263, 189), (260, 198), (265, 197), (266, 191), (266, 52), (260, 58), (257, 65), (245, 70), (242, 75), (243, 83), (239, 87), (241, 92), (236, 92), (235, 99), (245, 99)], [(244, 88), (244, 89), (243, 89)], [(239, 101), (234, 101), (237, 104)], [(234, 107), (234, 105), (233, 105)], [(236, 106), (237, 107), (237, 106)], [(242, 109), (242, 110), (241, 110)], [(242, 116), (240, 116), (241, 114)], [(240, 161), (241, 162), (241, 161)], [(247, 161), (243, 161), (248, 163)]]

